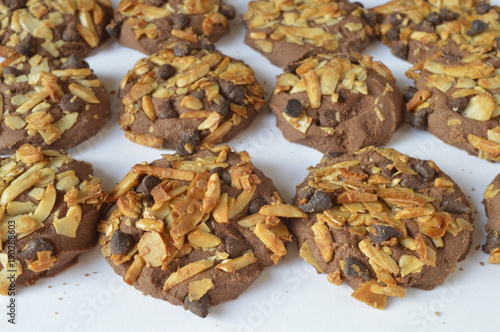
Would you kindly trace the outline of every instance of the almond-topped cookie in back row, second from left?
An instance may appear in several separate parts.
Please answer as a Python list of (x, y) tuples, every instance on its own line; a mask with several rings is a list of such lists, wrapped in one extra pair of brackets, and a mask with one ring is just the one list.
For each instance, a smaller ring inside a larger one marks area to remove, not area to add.
[(174, 48), (213, 49), (211, 43), (229, 31), (233, 6), (222, 0), (122, 0), (106, 28), (121, 45), (145, 54)]

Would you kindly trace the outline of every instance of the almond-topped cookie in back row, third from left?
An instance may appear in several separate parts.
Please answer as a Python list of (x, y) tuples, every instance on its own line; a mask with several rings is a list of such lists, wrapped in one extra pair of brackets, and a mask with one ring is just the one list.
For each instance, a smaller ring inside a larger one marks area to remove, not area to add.
[(346, 0), (252, 1), (245, 43), (278, 67), (318, 53), (361, 52), (373, 35), (365, 14)]

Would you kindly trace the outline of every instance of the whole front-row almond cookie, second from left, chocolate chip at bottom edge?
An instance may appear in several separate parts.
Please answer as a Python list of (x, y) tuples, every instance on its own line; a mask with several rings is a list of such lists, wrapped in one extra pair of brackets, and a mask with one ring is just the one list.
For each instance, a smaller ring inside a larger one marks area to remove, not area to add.
[(282, 199), (246, 152), (209, 147), (135, 165), (110, 194), (102, 252), (124, 281), (205, 317), (286, 254)]

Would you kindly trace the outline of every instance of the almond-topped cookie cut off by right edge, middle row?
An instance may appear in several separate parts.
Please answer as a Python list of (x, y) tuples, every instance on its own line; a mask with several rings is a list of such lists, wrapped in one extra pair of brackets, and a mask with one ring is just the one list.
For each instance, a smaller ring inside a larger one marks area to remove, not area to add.
[(408, 123), (447, 144), (489, 161), (500, 161), (500, 57), (437, 53), (407, 75)]

